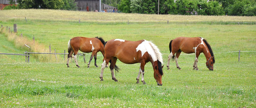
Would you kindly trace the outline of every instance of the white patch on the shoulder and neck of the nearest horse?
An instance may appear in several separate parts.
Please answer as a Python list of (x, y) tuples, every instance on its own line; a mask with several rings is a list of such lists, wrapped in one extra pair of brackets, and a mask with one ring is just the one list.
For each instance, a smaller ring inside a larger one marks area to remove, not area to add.
[(141, 51), (141, 56), (143, 56), (146, 52), (148, 52), (148, 54), (151, 56), (151, 58), (153, 59), (153, 61), (157, 61), (157, 55), (154, 51), (154, 49), (151, 47), (151, 45), (149, 44), (148, 41), (144, 40), (143, 42), (141, 42), (138, 47), (136, 48), (136, 51)]

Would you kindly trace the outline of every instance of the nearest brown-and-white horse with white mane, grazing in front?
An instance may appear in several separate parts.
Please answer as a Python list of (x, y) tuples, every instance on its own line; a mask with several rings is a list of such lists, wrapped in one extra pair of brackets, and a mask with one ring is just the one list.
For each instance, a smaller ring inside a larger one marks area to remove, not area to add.
[(105, 47), (105, 60), (102, 63), (100, 79), (103, 80), (103, 71), (106, 67), (106, 64), (110, 62), (110, 70), (112, 75), (112, 80), (116, 80), (114, 75), (114, 70), (118, 70), (118, 67), (115, 65), (117, 58), (125, 64), (135, 64), (140, 63), (139, 74), (136, 78), (137, 83), (139, 83), (140, 74), (141, 81), (145, 84), (144, 81), (144, 66), (149, 61), (151, 62), (154, 69), (154, 78), (157, 81), (158, 86), (162, 86), (162, 75), (163, 75), (163, 58), (159, 49), (152, 42), (146, 40), (140, 41), (126, 41), (122, 39), (113, 39), (106, 42)]

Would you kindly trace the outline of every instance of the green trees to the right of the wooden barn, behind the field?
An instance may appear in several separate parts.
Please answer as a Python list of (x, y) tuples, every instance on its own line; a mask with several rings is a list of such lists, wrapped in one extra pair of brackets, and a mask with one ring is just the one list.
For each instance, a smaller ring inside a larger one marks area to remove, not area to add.
[[(118, 9), (157, 14), (158, 0), (121, 0)], [(256, 16), (256, 0), (160, 0), (159, 14)]]

